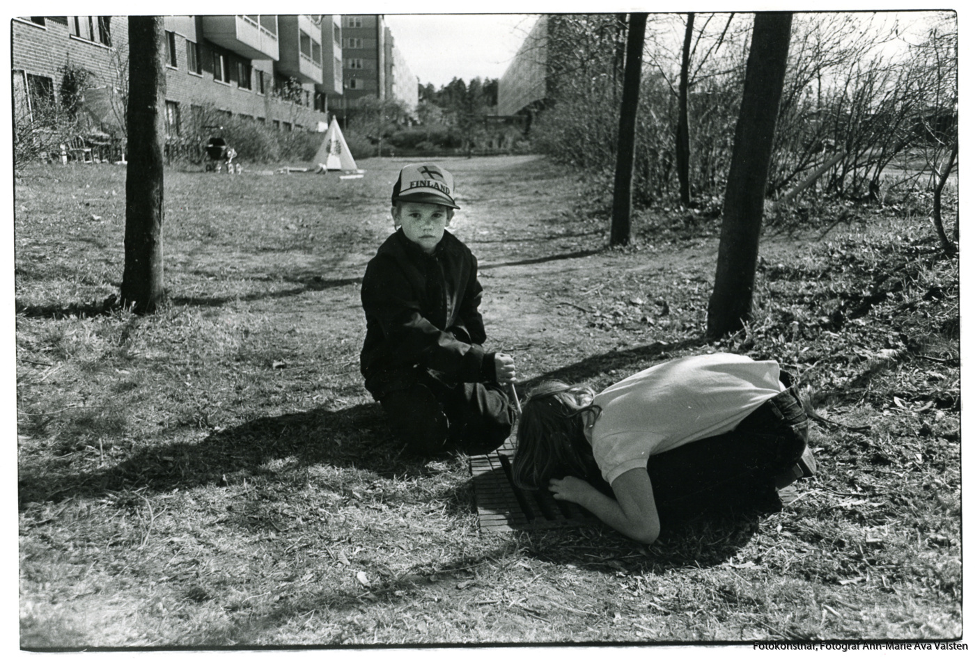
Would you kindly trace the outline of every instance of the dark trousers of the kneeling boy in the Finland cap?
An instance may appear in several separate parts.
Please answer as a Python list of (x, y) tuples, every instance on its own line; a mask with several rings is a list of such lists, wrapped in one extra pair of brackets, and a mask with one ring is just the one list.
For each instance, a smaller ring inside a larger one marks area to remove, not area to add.
[(501, 385), (449, 383), (425, 368), (401, 369), (383, 379), (379, 404), (393, 434), (417, 453), (451, 448), (489, 453), (511, 435), (515, 412)]

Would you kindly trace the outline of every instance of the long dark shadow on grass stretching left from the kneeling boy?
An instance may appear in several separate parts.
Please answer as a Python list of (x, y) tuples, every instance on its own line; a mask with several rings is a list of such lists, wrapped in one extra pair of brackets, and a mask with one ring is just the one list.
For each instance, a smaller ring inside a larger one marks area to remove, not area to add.
[[(322, 464), (386, 478), (426, 474), (426, 461), (401, 448), (386, 432), (378, 404), (312, 409), (254, 419), (218, 430), (199, 443), (140, 448), (119, 464), (95, 472), (57, 475), (21, 466), (20, 506), (125, 488), (167, 491), (235, 485), (259, 476), (291, 482), (295, 468)], [(289, 460), (289, 474), (275, 471), (275, 460)]]

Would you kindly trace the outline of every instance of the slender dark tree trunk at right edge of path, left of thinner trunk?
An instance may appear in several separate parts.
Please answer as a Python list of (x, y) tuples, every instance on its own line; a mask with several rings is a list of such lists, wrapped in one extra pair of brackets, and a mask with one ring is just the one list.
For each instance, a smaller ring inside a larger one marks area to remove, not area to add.
[(619, 110), (616, 149), (616, 182), (612, 199), (610, 245), (630, 242), (630, 207), (633, 201), (633, 155), (637, 136), (637, 105), (640, 103), (640, 69), (643, 66), (643, 35), (646, 13), (631, 14), (626, 39), (626, 68), (623, 72), (623, 100)]

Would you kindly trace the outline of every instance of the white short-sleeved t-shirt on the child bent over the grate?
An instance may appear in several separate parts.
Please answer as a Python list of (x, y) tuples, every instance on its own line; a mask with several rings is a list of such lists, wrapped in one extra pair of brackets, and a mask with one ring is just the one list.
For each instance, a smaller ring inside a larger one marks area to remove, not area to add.
[(645, 467), (650, 455), (721, 435), (785, 390), (779, 365), (744, 355), (683, 357), (646, 368), (600, 392), (586, 428), (606, 483)]

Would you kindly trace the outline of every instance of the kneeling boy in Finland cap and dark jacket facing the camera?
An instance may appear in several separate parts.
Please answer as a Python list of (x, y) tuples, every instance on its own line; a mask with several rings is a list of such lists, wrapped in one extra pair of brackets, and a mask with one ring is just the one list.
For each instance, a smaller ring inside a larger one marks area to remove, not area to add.
[(502, 388), (515, 380), (514, 360), (482, 347), (478, 262), (445, 231), (457, 208), (451, 174), (431, 163), (404, 167), (390, 209), (396, 232), (363, 278), (366, 388), (394, 435), (426, 455), (487, 453), (514, 423)]

